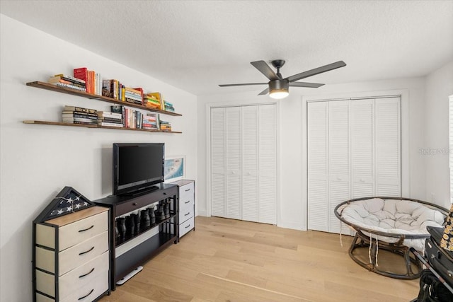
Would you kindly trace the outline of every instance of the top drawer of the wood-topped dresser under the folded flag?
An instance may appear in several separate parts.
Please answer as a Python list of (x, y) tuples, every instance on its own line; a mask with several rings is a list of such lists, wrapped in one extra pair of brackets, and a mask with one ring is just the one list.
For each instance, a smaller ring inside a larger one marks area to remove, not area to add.
[[(96, 209), (89, 209), (95, 211)], [(108, 209), (100, 209), (100, 214), (88, 216), (58, 228), (58, 250), (65, 250), (84, 240), (108, 230)], [(89, 211), (86, 211), (89, 212)], [(83, 217), (83, 216), (82, 216)], [(65, 217), (55, 219), (63, 221)], [(51, 222), (51, 221), (50, 221)], [(36, 244), (55, 248), (55, 228), (38, 224), (36, 226)]]

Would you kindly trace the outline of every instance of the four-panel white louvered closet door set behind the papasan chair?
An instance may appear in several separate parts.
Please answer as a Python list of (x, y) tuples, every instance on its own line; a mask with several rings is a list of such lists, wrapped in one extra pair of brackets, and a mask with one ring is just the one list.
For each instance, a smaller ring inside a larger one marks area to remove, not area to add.
[(401, 98), (307, 103), (307, 152), (308, 228), (339, 233), (340, 202), (401, 196)]

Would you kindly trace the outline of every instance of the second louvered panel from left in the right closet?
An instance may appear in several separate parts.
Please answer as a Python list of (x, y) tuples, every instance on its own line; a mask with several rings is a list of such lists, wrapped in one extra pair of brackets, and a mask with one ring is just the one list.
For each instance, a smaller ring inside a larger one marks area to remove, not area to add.
[[(349, 100), (328, 102), (328, 231), (340, 233), (335, 207), (350, 197)], [(342, 233), (349, 233), (343, 224)]]

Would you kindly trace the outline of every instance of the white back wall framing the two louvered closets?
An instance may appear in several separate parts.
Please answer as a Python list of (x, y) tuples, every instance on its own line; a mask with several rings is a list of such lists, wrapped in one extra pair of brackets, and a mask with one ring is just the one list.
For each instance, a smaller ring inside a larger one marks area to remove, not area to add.
[[(418, 149), (424, 144), (424, 110), (425, 110), (425, 79), (394, 79), (362, 83), (345, 83), (326, 85), (309, 90), (308, 88), (292, 88), (288, 98), (277, 102), (279, 105), (279, 175), (278, 192), (280, 206), (278, 209), (277, 225), (285, 228), (306, 229), (306, 188), (304, 175), (306, 166), (304, 156), (305, 120), (302, 119), (302, 98), (335, 98), (338, 95), (376, 95), (376, 92), (407, 91), (408, 104), (403, 108), (402, 115), (407, 120), (408, 129), (402, 137), (403, 144), (408, 146), (408, 197), (425, 198), (425, 165), (423, 158), (418, 156)], [(225, 88), (227, 89), (227, 88)], [(253, 88), (252, 88), (253, 89)], [(198, 170), (200, 182), (205, 182), (207, 168), (207, 106), (211, 103), (266, 103), (268, 96), (257, 96), (257, 91), (228, 93), (224, 95), (204, 95), (198, 98), (198, 149), (200, 158)], [(207, 188), (198, 191), (198, 212), (207, 213)]]

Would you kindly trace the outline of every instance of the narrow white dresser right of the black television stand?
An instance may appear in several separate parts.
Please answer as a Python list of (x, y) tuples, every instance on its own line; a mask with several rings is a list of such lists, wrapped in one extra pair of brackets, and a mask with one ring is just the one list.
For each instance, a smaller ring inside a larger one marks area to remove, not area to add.
[(179, 238), (195, 230), (195, 181), (178, 180), (171, 182), (179, 187)]

